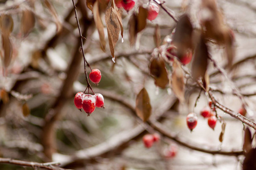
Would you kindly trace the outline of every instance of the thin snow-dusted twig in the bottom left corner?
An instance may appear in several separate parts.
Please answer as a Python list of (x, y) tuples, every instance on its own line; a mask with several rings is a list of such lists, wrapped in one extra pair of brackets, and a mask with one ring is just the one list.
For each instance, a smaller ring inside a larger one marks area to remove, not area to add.
[(37, 163), (37, 162), (27, 162), (23, 160), (15, 160), (10, 158), (0, 158), (0, 163), (19, 165), (22, 167), (32, 167), (32, 168), (44, 168), (50, 170), (64, 170), (64, 168), (57, 167), (60, 163), (49, 162), (49, 163)]

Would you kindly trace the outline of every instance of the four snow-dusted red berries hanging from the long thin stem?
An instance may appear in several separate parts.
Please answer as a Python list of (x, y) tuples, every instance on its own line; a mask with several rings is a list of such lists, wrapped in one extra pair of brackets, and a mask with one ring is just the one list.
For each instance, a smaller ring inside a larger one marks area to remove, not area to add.
[[(96, 85), (101, 80), (101, 72), (98, 69), (93, 69), (89, 74), (90, 80)], [(78, 92), (75, 96), (74, 103), (77, 109), (84, 109), (85, 113), (90, 116), (90, 114), (95, 110), (95, 108), (104, 108), (104, 97), (101, 94), (84, 94), (83, 92)]]

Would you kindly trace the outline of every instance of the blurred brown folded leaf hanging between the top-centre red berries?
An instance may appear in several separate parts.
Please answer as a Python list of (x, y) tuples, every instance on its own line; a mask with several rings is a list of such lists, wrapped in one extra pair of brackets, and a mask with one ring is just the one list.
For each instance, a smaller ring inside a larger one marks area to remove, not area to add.
[(130, 45), (133, 45), (137, 33), (141, 32), (147, 25), (147, 9), (142, 6), (139, 7), (138, 14), (133, 14), (129, 20), (129, 40)]

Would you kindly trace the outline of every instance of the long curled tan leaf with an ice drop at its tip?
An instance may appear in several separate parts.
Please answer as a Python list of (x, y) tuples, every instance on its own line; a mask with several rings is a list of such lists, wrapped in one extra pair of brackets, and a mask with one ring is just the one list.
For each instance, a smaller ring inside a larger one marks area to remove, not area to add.
[(117, 44), (119, 33), (120, 33), (120, 25), (118, 22), (118, 16), (114, 12), (114, 8), (110, 7), (108, 10), (106, 10), (106, 15), (105, 15), (105, 22), (106, 22), (106, 27), (108, 29), (108, 38), (109, 38), (109, 48), (111, 55), (113, 59), (115, 58), (115, 44)]

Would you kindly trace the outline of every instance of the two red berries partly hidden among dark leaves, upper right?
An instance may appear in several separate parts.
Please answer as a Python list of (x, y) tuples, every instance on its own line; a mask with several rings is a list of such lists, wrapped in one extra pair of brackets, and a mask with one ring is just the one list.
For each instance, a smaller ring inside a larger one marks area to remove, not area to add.
[[(177, 48), (174, 45), (171, 45), (169, 48), (167, 48), (166, 57), (168, 61), (174, 61), (174, 57), (177, 57)], [(187, 65), (189, 62), (191, 62), (192, 59), (192, 52), (191, 50), (188, 50), (187, 53), (184, 54), (184, 56), (180, 57), (179, 60), (183, 65)]]

